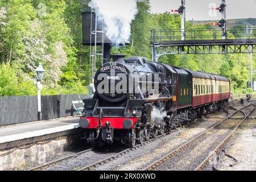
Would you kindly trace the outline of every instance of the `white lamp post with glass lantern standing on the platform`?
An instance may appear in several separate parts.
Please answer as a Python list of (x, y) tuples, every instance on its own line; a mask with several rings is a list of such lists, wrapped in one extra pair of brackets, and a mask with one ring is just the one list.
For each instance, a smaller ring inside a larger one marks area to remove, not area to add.
[(42, 111), (41, 111), (41, 89), (43, 88), (43, 85), (41, 84), (41, 80), (43, 80), (44, 77), (44, 68), (42, 66), (42, 63), (39, 63), (38, 68), (35, 70), (35, 78), (36, 78), (36, 88), (38, 88), (38, 121), (42, 121)]

